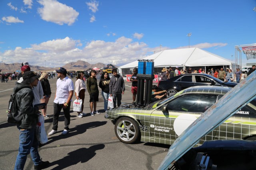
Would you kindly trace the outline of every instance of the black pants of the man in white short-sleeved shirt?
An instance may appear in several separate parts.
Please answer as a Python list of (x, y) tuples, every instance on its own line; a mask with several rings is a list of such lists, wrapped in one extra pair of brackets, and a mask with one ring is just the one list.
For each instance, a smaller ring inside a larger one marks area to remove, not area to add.
[(68, 126), (70, 124), (70, 103), (68, 104), (68, 107), (66, 107), (65, 109), (62, 108), (63, 107), (63, 104), (56, 104), (56, 103), (53, 103), (53, 127), (52, 129), (57, 131), (58, 129), (58, 119), (59, 119), (59, 115), (60, 115), (60, 111), (61, 109), (63, 109), (63, 112), (64, 112), (64, 116), (65, 116), (65, 127), (64, 129), (68, 130)]

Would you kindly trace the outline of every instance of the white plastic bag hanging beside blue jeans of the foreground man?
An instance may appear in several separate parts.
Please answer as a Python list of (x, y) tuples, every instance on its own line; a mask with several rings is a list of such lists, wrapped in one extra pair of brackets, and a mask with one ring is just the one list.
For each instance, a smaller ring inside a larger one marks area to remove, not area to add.
[(41, 144), (48, 142), (47, 134), (44, 129), (44, 116), (38, 114), (38, 123), (36, 124), (36, 139)]

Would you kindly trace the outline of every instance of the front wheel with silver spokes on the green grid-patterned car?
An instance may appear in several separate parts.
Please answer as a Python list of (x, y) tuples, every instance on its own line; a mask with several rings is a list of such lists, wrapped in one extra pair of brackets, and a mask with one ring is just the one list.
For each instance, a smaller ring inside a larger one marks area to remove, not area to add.
[(140, 137), (138, 123), (130, 117), (121, 117), (115, 124), (116, 137), (123, 143), (134, 143)]

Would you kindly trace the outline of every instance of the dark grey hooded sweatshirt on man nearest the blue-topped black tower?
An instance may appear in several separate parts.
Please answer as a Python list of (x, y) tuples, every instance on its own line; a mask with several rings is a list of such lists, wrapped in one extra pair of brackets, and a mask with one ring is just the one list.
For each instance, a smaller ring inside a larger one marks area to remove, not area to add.
[(109, 93), (118, 94), (124, 92), (124, 79), (119, 74), (117, 76), (112, 76), (109, 82)]

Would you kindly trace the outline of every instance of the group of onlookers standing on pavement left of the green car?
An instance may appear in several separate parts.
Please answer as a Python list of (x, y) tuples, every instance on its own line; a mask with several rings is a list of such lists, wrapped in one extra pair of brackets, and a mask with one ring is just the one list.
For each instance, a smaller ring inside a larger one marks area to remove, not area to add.
[[(72, 76), (76, 76), (75, 82), (75, 96), (76, 99), (82, 99), (81, 111), (77, 112), (78, 117), (83, 117), (86, 113), (83, 112), (85, 92), (88, 91), (90, 95), (90, 114), (93, 116), (99, 114), (96, 110), (99, 90), (96, 79), (96, 71), (91, 70), (90, 77), (87, 83), (84, 82), (84, 73), (78, 72), (68, 74), (67, 70), (60, 67), (56, 70), (58, 80), (56, 82), (56, 93), (54, 96), (54, 112), (52, 130), (48, 135), (54, 135), (58, 129), (58, 117), (61, 110), (64, 112), (64, 130), (62, 135), (69, 132), (70, 125), (70, 105), (74, 94), (74, 84), (71, 80)], [(42, 72), (40, 75), (37, 72), (30, 70), (28, 62), (21, 67), (20, 79), (16, 82), (14, 92), (17, 93), (17, 110), (22, 113), (23, 117), (17, 127), (20, 131), (20, 146), (18, 156), (16, 158), (15, 170), (22, 170), (26, 163), (27, 155), (30, 153), (32, 161), (34, 162), (34, 169), (44, 169), (49, 165), (49, 161), (42, 161), (38, 152), (38, 140), (36, 138), (36, 124), (38, 122), (38, 115), (41, 110), (44, 118), (49, 118), (46, 109), (49, 99), (51, 97), (51, 88), (48, 78), (52, 74)], [(70, 77), (70, 78), (69, 78)], [(110, 78), (108, 72), (103, 72), (99, 86), (102, 89), (102, 97), (104, 98), (104, 110), (108, 110), (108, 97), (113, 96), (114, 107), (121, 105), (122, 94), (124, 94), (125, 86), (122, 76), (117, 74), (117, 69), (113, 69), (113, 76)], [(117, 105), (116, 105), (117, 102)], [(45, 103), (46, 106), (41, 106)], [(39, 106), (38, 106), (39, 104)], [(37, 106), (35, 106), (37, 105)]]

